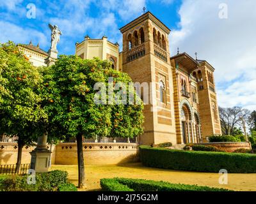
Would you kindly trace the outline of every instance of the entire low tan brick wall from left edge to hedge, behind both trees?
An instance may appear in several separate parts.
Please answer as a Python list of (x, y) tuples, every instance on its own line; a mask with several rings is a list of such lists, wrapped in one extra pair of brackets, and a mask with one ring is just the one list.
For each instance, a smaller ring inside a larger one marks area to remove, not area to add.
[[(17, 143), (0, 143), (0, 164), (16, 164)], [(50, 145), (48, 146), (50, 149)], [(22, 164), (29, 164), (31, 152), (35, 147), (22, 149)], [(139, 160), (136, 143), (83, 143), (85, 164), (118, 164)], [(51, 164), (77, 164), (76, 143), (52, 145)]]

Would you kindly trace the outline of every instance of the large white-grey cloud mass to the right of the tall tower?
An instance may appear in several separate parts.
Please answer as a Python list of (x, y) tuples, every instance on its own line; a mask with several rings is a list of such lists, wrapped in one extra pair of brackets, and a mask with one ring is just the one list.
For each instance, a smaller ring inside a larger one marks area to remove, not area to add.
[[(228, 18), (219, 18), (221, 3)], [(216, 69), (219, 105), (243, 105), (256, 109), (256, 3), (254, 0), (184, 0), (179, 10), (180, 29), (170, 36), (170, 50), (188, 52), (207, 60)], [(231, 83), (230, 83), (231, 82)], [(233, 82), (233, 83), (232, 83)]]

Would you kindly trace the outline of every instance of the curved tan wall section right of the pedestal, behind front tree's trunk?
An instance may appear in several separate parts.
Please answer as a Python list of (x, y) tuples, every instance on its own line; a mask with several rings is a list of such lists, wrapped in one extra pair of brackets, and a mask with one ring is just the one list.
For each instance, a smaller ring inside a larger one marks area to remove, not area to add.
[[(85, 164), (118, 164), (139, 160), (136, 143), (83, 143)], [(56, 146), (55, 164), (77, 164), (76, 143)]]

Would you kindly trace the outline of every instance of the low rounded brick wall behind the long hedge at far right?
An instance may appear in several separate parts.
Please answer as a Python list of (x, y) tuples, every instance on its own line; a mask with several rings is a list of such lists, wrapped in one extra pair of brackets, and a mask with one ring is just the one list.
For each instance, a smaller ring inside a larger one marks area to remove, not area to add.
[(200, 143), (200, 145), (212, 145), (225, 152), (234, 152), (237, 149), (252, 149), (249, 142), (207, 142)]

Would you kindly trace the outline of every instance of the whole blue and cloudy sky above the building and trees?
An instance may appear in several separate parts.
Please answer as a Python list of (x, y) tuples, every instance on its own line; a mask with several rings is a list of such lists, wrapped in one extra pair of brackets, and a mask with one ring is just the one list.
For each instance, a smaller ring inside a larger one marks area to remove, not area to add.
[(255, 0), (0, 0), (0, 42), (32, 40), (47, 51), (50, 22), (63, 33), (60, 54), (74, 54), (86, 34), (122, 45), (119, 28), (139, 17), (143, 6), (172, 30), (171, 55), (179, 47), (214, 66), (220, 106), (256, 110)]

